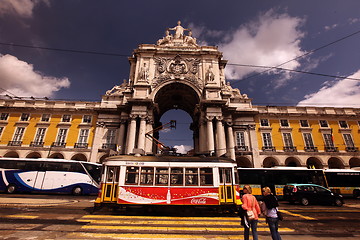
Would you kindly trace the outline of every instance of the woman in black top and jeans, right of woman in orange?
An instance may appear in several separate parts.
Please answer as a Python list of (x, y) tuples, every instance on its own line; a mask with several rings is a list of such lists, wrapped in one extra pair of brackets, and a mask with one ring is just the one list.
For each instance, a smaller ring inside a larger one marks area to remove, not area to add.
[(266, 217), (266, 222), (269, 225), (271, 237), (273, 240), (281, 240), (279, 234), (279, 202), (277, 198), (271, 193), (271, 189), (269, 187), (264, 187), (262, 192), (264, 196), (264, 202), (261, 204), (261, 211)]

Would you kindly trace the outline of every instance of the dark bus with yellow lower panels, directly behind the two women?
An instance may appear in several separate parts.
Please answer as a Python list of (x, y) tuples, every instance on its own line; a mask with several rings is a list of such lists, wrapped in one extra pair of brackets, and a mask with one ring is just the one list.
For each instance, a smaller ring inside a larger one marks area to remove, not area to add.
[(322, 169), (305, 167), (238, 168), (240, 187), (250, 185), (253, 195), (262, 196), (261, 188), (270, 187), (278, 199), (283, 198), (283, 188), (288, 183), (313, 183), (327, 187)]

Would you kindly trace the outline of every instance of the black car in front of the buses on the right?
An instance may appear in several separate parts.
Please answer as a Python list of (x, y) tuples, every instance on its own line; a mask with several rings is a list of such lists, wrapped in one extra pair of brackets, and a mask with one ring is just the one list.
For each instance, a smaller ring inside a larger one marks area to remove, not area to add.
[(316, 184), (287, 184), (284, 187), (284, 200), (299, 202), (304, 206), (311, 204), (330, 204), (341, 207), (343, 196)]

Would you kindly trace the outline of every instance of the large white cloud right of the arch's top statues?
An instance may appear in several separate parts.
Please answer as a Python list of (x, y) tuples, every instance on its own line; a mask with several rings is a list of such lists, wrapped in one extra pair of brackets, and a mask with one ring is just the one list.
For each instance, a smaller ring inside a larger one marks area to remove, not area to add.
[[(230, 40), (219, 44), (219, 48), (231, 63), (277, 66), (304, 53), (300, 48), (304, 33), (299, 30), (303, 21), (301, 18), (275, 14), (270, 10), (257, 21), (242, 25), (230, 36), (225, 36), (225, 39)], [(292, 61), (282, 67), (295, 69), (299, 66), (298, 61)], [(240, 79), (251, 72), (262, 71), (264, 69), (228, 65), (226, 77)], [(288, 72), (281, 73), (277, 86), (283, 85), (290, 78)]]

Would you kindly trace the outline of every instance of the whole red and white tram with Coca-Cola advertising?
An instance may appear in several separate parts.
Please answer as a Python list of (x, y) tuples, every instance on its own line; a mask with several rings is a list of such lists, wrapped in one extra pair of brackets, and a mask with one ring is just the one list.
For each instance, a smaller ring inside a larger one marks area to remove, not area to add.
[(116, 206), (211, 207), (234, 210), (241, 204), (236, 162), (189, 156), (112, 156), (103, 162), (95, 208)]

